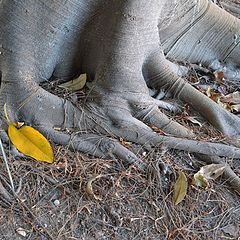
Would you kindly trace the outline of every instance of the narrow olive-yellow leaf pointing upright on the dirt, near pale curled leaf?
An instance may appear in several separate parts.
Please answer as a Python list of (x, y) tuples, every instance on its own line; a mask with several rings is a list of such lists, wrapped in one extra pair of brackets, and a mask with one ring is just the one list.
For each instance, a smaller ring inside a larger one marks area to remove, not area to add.
[(175, 205), (179, 204), (187, 194), (188, 182), (185, 174), (183, 172), (179, 172), (178, 179), (174, 184), (173, 190), (173, 202)]

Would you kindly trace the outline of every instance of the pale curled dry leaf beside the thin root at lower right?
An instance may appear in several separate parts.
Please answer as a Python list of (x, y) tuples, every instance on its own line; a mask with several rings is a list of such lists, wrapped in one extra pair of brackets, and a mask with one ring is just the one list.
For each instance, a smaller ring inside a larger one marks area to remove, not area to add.
[(224, 164), (210, 164), (203, 166), (196, 174), (194, 174), (193, 183), (194, 185), (205, 189), (209, 186), (208, 180), (217, 179), (224, 173), (224, 170)]

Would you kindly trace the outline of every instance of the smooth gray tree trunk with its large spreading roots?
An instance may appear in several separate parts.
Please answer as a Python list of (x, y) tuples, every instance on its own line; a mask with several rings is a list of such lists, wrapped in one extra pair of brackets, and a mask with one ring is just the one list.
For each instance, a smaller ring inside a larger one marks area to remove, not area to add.
[[(0, 4), (0, 109), (6, 103), (12, 121), (33, 125), (57, 143), (120, 157), (142, 168), (144, 163), (115, 138), (147, 149), (164, 143), (210, 156), (240, 157), (237, 147), (193, 140), (189, 129), (161, 112), (169, 105), (152, 98), (148, 89), (164, 88), (224, 134), (239, 136), (239, 118), (189, 85), (169, 62), (213, 68), (218, 62), (228, 78), (239, 81), (236, 17), (208, 0)], [(39, 86), (85, 72), (94, 80), (82, 109)], [(157, 134), (149, 124), (171, 136)]]

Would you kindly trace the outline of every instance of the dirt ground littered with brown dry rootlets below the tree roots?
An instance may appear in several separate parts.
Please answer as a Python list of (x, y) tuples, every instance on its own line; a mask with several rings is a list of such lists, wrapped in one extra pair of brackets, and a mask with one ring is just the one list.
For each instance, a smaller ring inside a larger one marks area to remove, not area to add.
[[(228, 2), (220, 3), (226, 7)], [(230, 10), (237, 15), (239, 3), (232, 2)], [(175, 118), (203, 141), (225, 141), (200, 117), (202, 126), (185, 121), (181, 114)], [(141, 172), (121, 160), (95, 159), (53, 146), (52, 165), (8, 153), (15, 196), (1, 161), (1, 240), (240, 239), (239, 195), (223, 178), (207, 190), (193, 186), (192, 176), (204, 164), (193, 154), (164, 146), (145, 152), (130, 144), (149, 165), (148, 172)], [(225, 161), (240, 175), (239, 160)], [(187, 175), (189, 187), (185, 200), (175, 206), (172, 191), (179, 170)], [(92, 180), (95, 196), (87, 187)]]

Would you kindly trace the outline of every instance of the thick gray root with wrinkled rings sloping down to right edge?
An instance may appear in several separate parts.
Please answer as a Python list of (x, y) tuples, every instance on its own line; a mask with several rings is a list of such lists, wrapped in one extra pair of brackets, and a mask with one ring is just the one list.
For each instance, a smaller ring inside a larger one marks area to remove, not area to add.
[(163, 54), (155, 52), (145, 67), (146, 81), (153, 88), (165, 88), (175, 98), (192, 106), (214, 127), (228, 136), (240, 135), (240, 119), (219, 106), (210, 98), (177, 76), (169, 67)]

